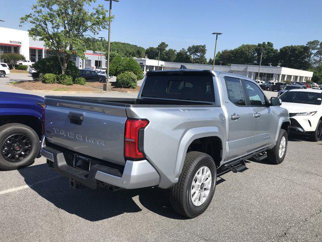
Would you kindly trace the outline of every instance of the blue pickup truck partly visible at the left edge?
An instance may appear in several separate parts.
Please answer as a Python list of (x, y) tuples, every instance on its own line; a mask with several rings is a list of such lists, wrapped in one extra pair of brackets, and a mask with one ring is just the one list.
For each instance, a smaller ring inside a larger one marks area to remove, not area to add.
[(31, 165), (40, 149), (44, 98), (0, 92), (0, 168)]

